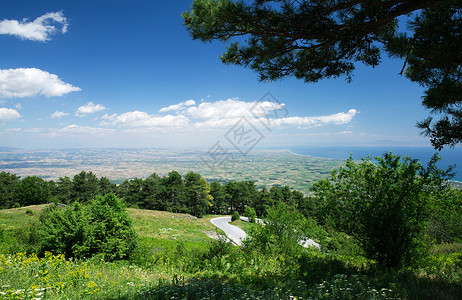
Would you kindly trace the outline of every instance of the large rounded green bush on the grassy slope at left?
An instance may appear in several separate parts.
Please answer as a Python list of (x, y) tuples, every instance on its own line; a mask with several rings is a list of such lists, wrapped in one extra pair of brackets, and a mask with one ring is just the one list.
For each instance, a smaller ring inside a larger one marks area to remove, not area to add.
[(102, 254), (112, 261), (128, 258), (136, 245), (127, 211), (114, 194), (98, 196), (88, 204), (50, 206), (34, 228), (33, 239), (42, 255), (45, 251), (76, 258)]

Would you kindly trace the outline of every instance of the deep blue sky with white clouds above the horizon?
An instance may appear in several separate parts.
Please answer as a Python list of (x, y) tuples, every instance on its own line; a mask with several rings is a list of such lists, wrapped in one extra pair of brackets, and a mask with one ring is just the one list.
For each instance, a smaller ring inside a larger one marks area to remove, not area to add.
[(358, 65), (352, 83), (261, 83), (220, 62), (225, 43), (191, 39), (190, 5), (4, 1), (0, 147), (209, 148), (242, 118), (258, 147), (430, 145), (415, 127), (423, 89), (398, 75), (402, 61)]

